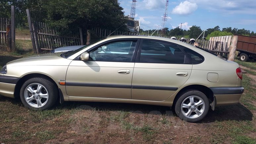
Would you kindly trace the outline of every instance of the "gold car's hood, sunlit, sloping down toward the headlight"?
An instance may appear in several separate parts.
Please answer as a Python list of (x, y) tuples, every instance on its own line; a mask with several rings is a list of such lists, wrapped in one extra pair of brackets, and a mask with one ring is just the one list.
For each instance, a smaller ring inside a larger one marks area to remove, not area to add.
[(49, 53), (29, 56), (21, 59), (17, 59), (7, 63), (7, 66), (40, 66), (40, 65), (55, 65), (55, 66), (67, 66), (72, 60), (61, 57), (61, 53)]

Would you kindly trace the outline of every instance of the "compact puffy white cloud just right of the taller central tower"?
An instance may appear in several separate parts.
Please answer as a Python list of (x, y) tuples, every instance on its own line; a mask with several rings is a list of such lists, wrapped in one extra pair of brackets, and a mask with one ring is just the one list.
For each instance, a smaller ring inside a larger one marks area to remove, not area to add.
[(184, 1), (184, 2), (180, 2), (180, 4), (173, 9), (172, 13), (178, 14), (178, 15), (189, 15), (192, 12), (194, 12), (196, 9), (197, 9), (196, 3)]

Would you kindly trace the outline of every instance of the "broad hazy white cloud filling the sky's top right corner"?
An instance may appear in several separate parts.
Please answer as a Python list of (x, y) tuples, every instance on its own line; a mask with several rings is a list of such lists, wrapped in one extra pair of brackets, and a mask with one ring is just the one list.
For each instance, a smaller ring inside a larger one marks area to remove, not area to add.
[(200, 8), (217, 11), (222, 15), (252, 14), (256, 15), (255, 0), (188, 0), (197, 3)]

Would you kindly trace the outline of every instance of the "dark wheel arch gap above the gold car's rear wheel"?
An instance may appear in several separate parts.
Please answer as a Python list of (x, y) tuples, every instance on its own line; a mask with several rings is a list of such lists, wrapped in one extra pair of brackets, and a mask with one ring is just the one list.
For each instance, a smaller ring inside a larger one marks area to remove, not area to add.
[(200, 85), (200, 84), (193, 84), (193, 85), (185, 86), (181, 90), (179, 90), (179, 92), (176, 94), (176, 97), (174, 98), (172, 108), (175, 107), (176, 102), (178, 101), (179, 97), (183, 93), (185, 93), (185, 92), (187, 92), (187, 91), (189, 91), (191, 89), (198, 90), (198, 91), (201, 91), (202, 93), (204, 93), (206, 95), (206, 97), (209, 99), (210, 104), (214, 101), (213, 92), (212, 92), (212, 90), (209, 87), (204, 86), (204, 85)]

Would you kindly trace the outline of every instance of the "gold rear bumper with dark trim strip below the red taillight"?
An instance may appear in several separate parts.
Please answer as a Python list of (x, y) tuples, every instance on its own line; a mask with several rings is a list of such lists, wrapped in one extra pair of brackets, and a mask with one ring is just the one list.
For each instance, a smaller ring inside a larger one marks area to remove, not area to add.
[(239, 103), (244, 91), (243, 87), (210, 87), (210, 89), (216, 98), (216, 106)]

